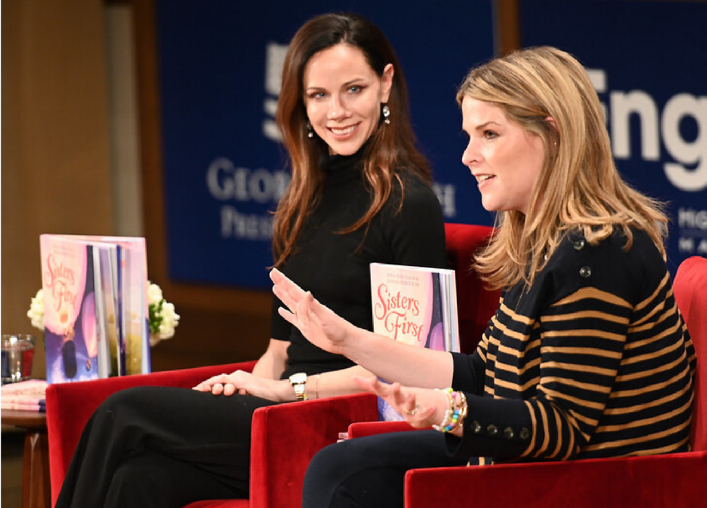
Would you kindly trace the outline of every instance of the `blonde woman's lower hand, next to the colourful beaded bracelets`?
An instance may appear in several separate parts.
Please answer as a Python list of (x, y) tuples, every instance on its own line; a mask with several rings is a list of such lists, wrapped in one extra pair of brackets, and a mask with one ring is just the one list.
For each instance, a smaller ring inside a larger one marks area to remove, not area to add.
[(354, 381), (384, 399), (414, 428), (439, 425), (449, 407), (447, 395), (440, 390), (403, 387), (397, 382), (388, 385), (377, 377), (354, 377)]

